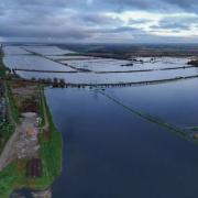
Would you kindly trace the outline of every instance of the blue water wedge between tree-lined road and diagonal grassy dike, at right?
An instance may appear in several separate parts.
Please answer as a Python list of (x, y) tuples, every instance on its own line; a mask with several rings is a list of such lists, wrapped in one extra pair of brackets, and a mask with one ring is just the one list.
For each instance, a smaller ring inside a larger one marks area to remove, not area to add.
[(123, 105), (182, 128), (198, 125), (198, 79), (107, 89)]

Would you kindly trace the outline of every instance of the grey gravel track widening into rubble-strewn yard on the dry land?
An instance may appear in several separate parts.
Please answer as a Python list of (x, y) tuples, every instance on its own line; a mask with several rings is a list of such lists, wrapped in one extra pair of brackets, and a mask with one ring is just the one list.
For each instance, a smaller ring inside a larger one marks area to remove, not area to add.
[[(31, 158), (36, 155), (38, 150), (37, 129), (36, 129), (36, 113), (23, 113), (21, 124), (16, 125), (15, 132), (4, 146), (0, 155), (0, 172), (9, 163), (15, 158)], [(33, 134), (28, 134), (32, 131)]]

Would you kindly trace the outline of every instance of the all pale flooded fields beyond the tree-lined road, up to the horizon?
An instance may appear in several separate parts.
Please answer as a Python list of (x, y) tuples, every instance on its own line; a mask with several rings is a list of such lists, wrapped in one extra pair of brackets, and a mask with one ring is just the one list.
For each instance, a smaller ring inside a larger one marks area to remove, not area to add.
[[(136, 57), (121, 61), (75, 55), (75, 52), (56, 46), (8, 46), (4, 48), (6, 65), (14, 68), (22, 78), (28, 79), (58, 78), (68, 84), (97, 85), (152, 81), (198, 75), (196, 67), (187, 65), (189, 58)], [(16, 53), (18, 48), (20, 53), (30, 54), (12, 56), (11, 54)], [(51, 72), (51, 74), (45, 72)], [(67, 74), (67, 72), (74, 72), (74, 74)]]

